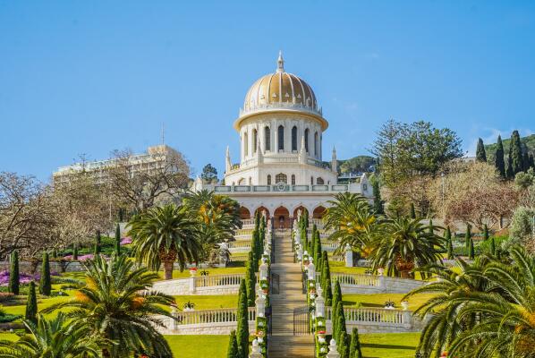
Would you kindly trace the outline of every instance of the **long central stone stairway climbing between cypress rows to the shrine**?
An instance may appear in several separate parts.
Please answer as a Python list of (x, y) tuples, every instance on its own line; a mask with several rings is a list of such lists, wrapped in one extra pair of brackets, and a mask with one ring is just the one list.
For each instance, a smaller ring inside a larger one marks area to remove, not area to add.
[(306, 305), (302, 294), (301, 268), (293, 263), (290, 230), (276, 231), (275, 263), (271, 270), (279, 275), (279, 294), (271, 296), (272, 336), (268, 345), (268, 357), (314, 357), (312, 336), (293, 336), (293, 309)]

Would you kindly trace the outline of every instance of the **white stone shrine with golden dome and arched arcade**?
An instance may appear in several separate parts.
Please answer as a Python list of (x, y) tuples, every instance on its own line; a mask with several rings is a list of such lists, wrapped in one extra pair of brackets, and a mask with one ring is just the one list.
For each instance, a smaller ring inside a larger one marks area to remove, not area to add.
[(242, 218), (258, 209), (274, 217), (276, 226), (289, 227), (299, 209), (319, 218), (337, 192), (357, 192), (371, 200), (366, 175), (354, 183), (338, 183), (335, 149), (322, 160), (323, 132), (328, 122), (310, 85), (284, 71), (279, 54), (275, 73), (255, 81), (234, 121), (240, 134), (240, 162), (233, 164), (226, 149), (225, 185), (202, 188), (224, 193), (242, 205)]

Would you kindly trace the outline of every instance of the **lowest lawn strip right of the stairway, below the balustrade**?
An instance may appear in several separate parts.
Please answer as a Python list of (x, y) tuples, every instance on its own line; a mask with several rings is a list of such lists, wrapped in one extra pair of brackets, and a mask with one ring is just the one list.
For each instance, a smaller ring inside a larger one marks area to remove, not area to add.
[(413, 358), (420, 333), (369, 333), (359, 337), (364, 358)]

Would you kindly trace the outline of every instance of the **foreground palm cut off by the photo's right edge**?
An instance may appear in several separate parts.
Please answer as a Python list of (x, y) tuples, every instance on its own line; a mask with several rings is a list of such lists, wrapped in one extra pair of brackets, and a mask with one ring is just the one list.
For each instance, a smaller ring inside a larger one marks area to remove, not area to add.
[(479, 315), (480, 323), (456, 337), (451, 354), (535, 356), (535, 258), (520, 246), (509, 253), (512, 264), (494, 260), (483, 271), (489, 281), (486, 292), (465, 297), (468, 303), (459, 311), (459, 319)]

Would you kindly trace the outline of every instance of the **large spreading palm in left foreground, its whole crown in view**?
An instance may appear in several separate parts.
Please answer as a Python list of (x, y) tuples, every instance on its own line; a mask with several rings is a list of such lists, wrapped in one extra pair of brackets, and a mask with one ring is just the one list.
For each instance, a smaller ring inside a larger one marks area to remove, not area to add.
[(98, 255), (95, 260), (86, 261), (85, 268), (87, 286), (72, 300), (43, 312), (72, 309), (65, 316), (72, 320), (75, 329), (84, 330), (88, 337), (113, 342), (102, 348), (104, 357), (173, 357), (157, 327), (163, 327), (162, 317), (173, 317), (165, 307), (174, 304), (174, 299), (149, 291), (157, 273), (134, 268), (134, 262), (125, 256), (114, 256), (106, 262)]

